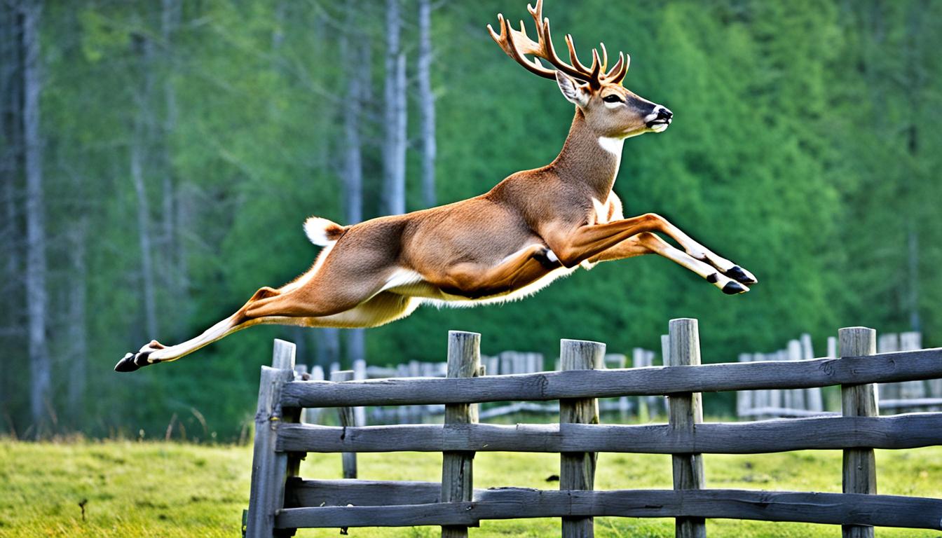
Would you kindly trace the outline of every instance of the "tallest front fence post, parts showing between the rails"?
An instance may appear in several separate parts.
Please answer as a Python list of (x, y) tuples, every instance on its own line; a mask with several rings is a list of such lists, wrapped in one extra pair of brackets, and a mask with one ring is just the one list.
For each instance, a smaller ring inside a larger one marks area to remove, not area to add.
[[(670, 366), (681, 367), (700, 364), (700, 334), (697, 320), (671, 319)], [(700, 393), (670, 395), (670, 424), (674, 430), (693, 432), (694, 425), (704, 421)], [(704, 489), (704, 462), (702, 454), (674, 454), (674, 489)], [(706, 538), (707, 524), (702, 517), (678, 517), (674, 524), (677, 538)]]

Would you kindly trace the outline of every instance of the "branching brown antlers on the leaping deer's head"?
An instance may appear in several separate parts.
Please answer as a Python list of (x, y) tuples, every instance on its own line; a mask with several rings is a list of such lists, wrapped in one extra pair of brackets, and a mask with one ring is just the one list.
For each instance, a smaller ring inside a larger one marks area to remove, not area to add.
[[(536, 23), (537, 41), (529, 39), (527, 28), (523, 21), (520, 21), (520, 29), (515, 30), (509, 20), (504, 18), (503, 14), (497, 14), (497, 24), (500, 24), (500, 33), (497, 34), (491, 24), (487, 25), (487, 30), (491, 33), (491, 38), (500, 45), (500, 48), (512, 57), (517, 63), (527, 68), (530, 73), (539, 74), (545, 78), (556, 78), (556, 71), (566, 73), (569, 76), (589, 83), (593, 90), (601, 88), (602, 84), (621, 84), (628, 71), (628, 62), (630, 57), (624, 53), (618, 53), (618, 62), (609, 72), (605, 69), (609, 64), (609, 53), (605, 49), (604, 43), (599, 43), (602, 48), (601, 59), (598, 56), (598, 50), (592, 51), (592, 66), (586, 67), (576, 54), (576, 45), (573, 44), (573, 36), (566, 35), (566, 47), (569, 49), (569, 61), (566, 63), (560, 59), (553, 49), (553, 37), (549, 30), (549, 19), (543, 16), (543, 0), (537, 0), (536, 8), (529, 4), (527, 10)], [(528, 56), (533, 56), (531, 60)], [(556, 69), (546, 69), (539, 59), (548, 61)]]

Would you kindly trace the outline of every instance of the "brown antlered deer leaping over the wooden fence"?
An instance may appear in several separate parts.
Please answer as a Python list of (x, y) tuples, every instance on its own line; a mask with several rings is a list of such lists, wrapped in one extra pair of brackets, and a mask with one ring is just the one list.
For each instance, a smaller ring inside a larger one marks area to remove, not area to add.
[(625, 53), (608, 69), (600, 43), (601, 56), (593, 49), (587, 67), (567, 35), (569, 61), (562, 60), (553, 48), (543, 0), (527, 8), (537, 41), (528, 37), (523, 21), (517, 30), (502, 14), (497, 15), (500, 31), (490, 24), (487, 29), (504, 53), (528, 72), (556, 81), (575, 106), (556, 159), (453, 204), (349, 226), (311, 217), (304, 231), (322, 249), (300, 277), (277, 289), (258, 289), (235, 314), (186, 342), (164, 346), (153, 340), (127, 353), (115, 370), (174, 361), (258, 324), (367, 328), (405, 318), (423, 303), (512, 301), (579, 268), (643, 254), (663, 256), (726, 294), (755, 285), (751, 272), (663, 217), (625, 218), (612, 190), (624, 141), (665, 131), (674, 114), (622, 86), (630, 63)]

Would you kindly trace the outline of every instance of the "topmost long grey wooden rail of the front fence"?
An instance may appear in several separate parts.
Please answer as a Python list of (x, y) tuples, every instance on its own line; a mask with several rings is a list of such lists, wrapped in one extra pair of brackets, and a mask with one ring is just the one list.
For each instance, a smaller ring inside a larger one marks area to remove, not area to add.
[(655, 396), (765, 388), (942, 378), (942, 349), (792, 362), (751, 362), (696, 367), (571, 370), (476, 378), (414, 378), (345, 383), (288, 383), (290, 407), (407, 405), (482, 401)]

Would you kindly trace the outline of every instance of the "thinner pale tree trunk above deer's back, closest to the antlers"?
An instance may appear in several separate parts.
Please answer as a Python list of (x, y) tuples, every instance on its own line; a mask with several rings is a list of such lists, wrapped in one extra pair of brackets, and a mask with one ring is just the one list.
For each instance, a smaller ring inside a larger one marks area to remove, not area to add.
[(422, 203), (435, 205), (435, 95), (431, 91), (431, 3), (418, 3), (418, 102), (422, 114)]

